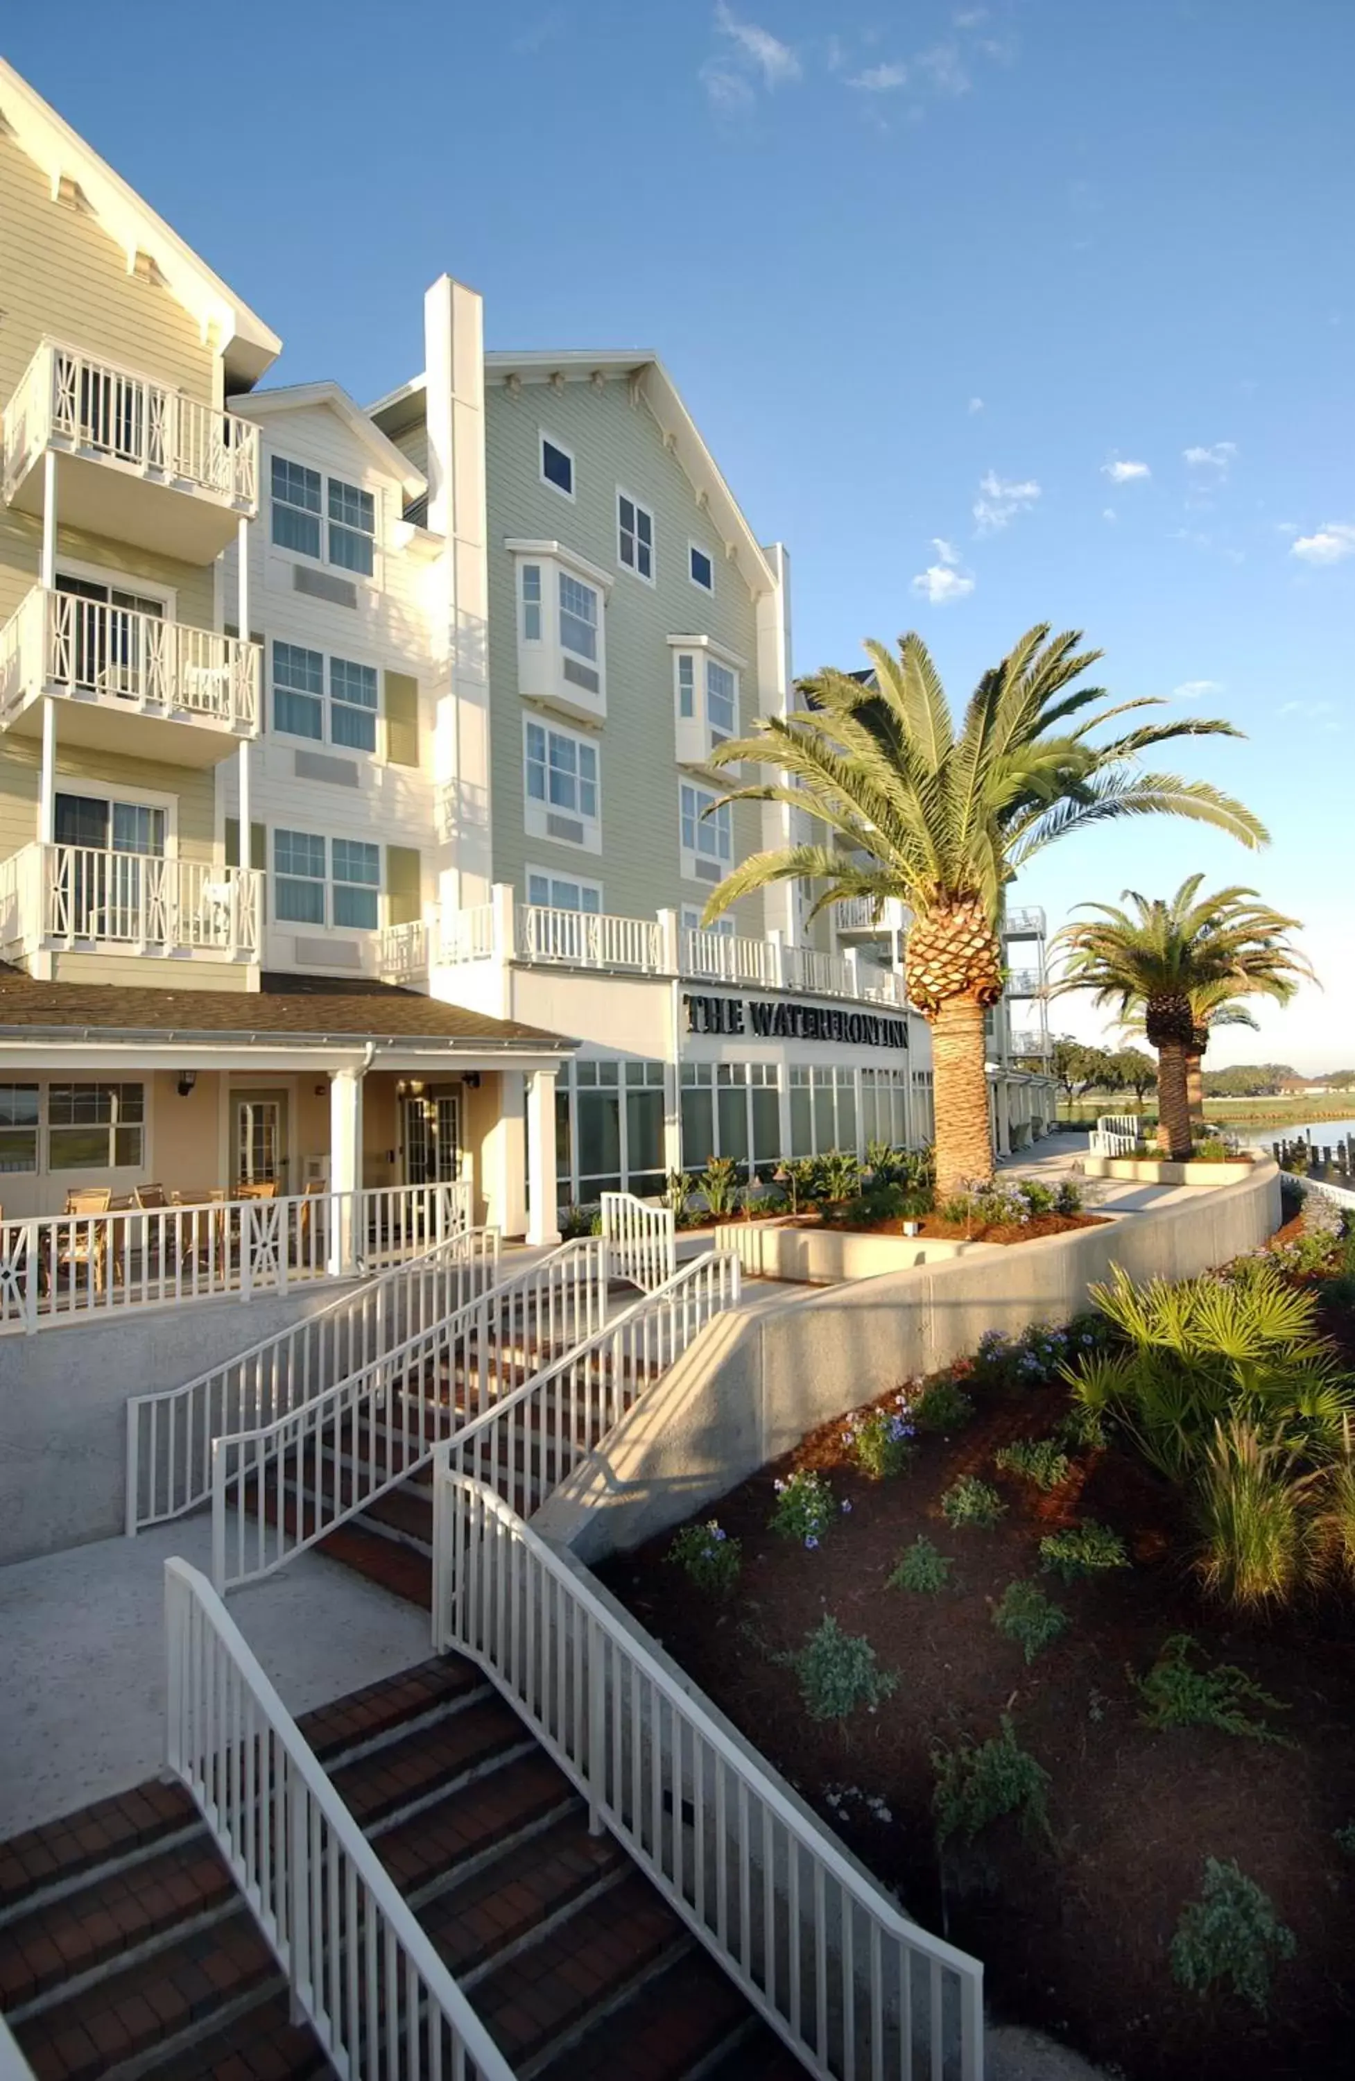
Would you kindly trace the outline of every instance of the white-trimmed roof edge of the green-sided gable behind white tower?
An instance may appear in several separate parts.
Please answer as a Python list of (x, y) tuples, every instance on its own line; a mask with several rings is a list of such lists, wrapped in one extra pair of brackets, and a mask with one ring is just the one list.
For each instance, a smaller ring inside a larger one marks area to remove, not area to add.
[[(724, 543), (726, 556), (733, 551), (743, 579), (753, 593), (776, 589), (776, 572), (766, 549), (743, 516), (743, 508), (728, 489), (724, 474), (701, 439), (697, 425), (683, 404), (683, 395), (651, 348), (566, 348), (531, 350), (525, 354), (485, 354), (485, 389), (491, 385), (516, 383), (591, 383), (593, 377), (624, 379), (635, 385), (637, 395), (656, 420), (664, 447), (668, 447), (693, 487), (697, 497), (706, 495), (710, 522)], [(412, 377), (398, 389), (387, 391), (368, 406), (375, 420), (385, 420), (400, 431), (423, 416), (427, 375)]]

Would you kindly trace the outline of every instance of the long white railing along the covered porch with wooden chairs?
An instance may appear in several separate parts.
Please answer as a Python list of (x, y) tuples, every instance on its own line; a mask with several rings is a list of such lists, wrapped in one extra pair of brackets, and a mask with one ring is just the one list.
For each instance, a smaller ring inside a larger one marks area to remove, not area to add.
[(0, 1222), (0, 1332), (352, 1278), (427, 1251), (468, 1219), (470, 1188), (458, 1180)]

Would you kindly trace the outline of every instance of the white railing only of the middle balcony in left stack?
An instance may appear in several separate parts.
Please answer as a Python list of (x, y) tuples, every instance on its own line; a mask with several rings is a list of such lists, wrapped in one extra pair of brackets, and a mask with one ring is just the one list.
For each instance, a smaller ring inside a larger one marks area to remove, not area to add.
[(44, 693), (258, 733), (260, 647), (35, 585), (0, 628), (0, 728)]

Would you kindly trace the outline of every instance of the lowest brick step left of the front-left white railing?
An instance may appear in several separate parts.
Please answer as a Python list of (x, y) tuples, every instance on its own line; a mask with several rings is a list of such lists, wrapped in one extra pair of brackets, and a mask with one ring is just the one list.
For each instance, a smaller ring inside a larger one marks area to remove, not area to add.
[(281, 1985), (277, 1960), (239, 1902), (150, 1958), (79, 1987), (15, 2027), (37, 2081), (110, 2081), (156, 2052), (233, 2021)]

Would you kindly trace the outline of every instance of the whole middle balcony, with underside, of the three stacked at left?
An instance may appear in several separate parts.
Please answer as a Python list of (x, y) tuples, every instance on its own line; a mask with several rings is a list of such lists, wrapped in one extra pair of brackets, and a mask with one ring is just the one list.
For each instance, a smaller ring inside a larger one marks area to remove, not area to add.
[(0, 730), (17, 737), (42, 735), (50, 693), (62, 743), (214, 766), (258, 737), (258, 643), (104, 599), (35, 585), (0, 628)]

